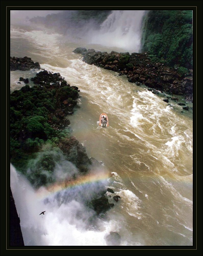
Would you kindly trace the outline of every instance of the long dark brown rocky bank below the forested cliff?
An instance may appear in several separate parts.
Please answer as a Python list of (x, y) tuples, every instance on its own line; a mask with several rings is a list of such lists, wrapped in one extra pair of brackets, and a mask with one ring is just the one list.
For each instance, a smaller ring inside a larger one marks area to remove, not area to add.
[[(78, 48), (77, 48), (78, 49)], [(75, 49), (77, 52), (79, 50)], [(120, 76), (127, 76), (128, 81), (137, 85), (144, 84), (157, 91), (169, 94), (184, 95), (187, 101), (193, 102), (193, 71), (189, 70), (187, 76), (179, 74), (175, 68), (168, 67), (161, 62), (152, 62), (147, 54), (143, 53), (118, 53), (95, 51), (82, 48), (80, 53), (83, 61), (98, 67), (118, 72)]]

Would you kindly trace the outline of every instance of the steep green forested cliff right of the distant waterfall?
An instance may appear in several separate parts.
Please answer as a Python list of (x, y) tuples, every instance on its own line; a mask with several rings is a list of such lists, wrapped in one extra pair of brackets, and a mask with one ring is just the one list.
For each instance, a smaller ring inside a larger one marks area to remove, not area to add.
[(171, 66), (193, 66), (192, 10), (150, 10), (142, 32), (142, 51)]

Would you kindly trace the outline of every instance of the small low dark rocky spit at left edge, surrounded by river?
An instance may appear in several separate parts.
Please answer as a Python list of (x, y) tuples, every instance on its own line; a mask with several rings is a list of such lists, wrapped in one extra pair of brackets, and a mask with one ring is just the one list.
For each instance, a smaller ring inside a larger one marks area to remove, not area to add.
[(10, 57), (10, 70), (30, 70), (30, 69), (40, 69), (39, 62), (35, 62), (28, 58), (27, 56), (24, 58)]

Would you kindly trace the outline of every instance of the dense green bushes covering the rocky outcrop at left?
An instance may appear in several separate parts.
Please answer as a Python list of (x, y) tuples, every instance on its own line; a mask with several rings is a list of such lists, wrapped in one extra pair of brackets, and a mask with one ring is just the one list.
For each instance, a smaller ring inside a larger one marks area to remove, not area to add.
[[(37, 76), (44, 74), (48, 72), (42, 71)], [(49, 79), (51, 75), (48, 74)], [(53, 76), (56, 79), (56, 74)], [(35, 77), (35, 79), (38, 78)], [(43, 77), (42, 81), (44, 80)], [(25, 173), (28, 162), (36, 157), (37, 152), (41, 151), (45, 145), (57, 147), (60, 141), (70, 137), (69, 129), (58, 129), (61, 118), (56, 114), (56, 109), (65, 108), (62, 103), (64, 100), (68, 99), (72, 104), (77, 97), (76, 90), (70, 86), (59, 88), (57, 83), (52, 86), (49, 83), (43, 86), (36, 84), (33, 87), (26, 85), (11, 93), (10, 162), (18, 170)], [(50, 171), (50, 162), (48, 161), (47, 165), (45, 161), (43, 163), (43, 170)]]

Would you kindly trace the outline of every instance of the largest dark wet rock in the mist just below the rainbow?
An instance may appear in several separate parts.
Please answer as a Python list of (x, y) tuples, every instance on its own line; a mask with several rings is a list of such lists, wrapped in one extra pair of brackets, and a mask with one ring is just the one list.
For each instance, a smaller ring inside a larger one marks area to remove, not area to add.
[(114, 204), (110, 204), (108, 198), (102, 196), (97, 199), (90, 201), (88, 206), (96, 211), (97, 214), (105, 213), (107, 210), (112, 208)]

